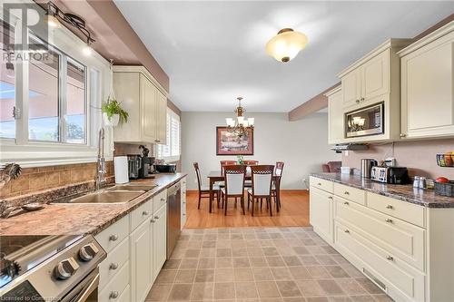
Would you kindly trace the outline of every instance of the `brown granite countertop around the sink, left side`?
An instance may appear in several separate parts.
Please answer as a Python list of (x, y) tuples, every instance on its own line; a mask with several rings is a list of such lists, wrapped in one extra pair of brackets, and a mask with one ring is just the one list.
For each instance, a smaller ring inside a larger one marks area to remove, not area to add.
[(71, 204), (52, 203), (44, 209), (27, 212), (9, 219), (0, 219), (0, 236), (5, 235), (95, 235), (123, 218), (160, 191), (183, 179), (183, 173), (163, 173), (155, 179), (135, 180), (158, 184), (153, 190), (126, 203)]

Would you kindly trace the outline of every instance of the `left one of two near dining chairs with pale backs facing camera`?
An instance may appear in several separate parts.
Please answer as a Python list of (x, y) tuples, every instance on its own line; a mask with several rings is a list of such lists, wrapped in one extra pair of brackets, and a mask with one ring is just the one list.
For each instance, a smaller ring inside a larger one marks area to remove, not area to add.
[(225, 187), (221, 189), (222, 206), (224, 207), (224, 215), (227, 215), (227, 201), (229, 198), (240, 198), (242, 204), (242, 215), (245, 215), (244, 210), (244, 179), (246, 177), (246, 166), (231, 165), (224, 166)]

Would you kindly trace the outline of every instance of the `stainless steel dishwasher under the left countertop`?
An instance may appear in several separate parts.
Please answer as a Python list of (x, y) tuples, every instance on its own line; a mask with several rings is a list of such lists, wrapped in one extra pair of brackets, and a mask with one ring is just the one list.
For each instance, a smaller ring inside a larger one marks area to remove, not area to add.
[(167, 189), (167, 258), (181, 233), (182, 189), (180, 182)]

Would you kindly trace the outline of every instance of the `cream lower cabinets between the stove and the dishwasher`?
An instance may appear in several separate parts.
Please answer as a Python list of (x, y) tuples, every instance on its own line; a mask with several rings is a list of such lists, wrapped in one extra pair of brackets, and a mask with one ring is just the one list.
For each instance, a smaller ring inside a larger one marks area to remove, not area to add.
[(143, 302), (167, 253), (167, 190), (95, 236), (107, 252), (99, 265), (98, 299)]

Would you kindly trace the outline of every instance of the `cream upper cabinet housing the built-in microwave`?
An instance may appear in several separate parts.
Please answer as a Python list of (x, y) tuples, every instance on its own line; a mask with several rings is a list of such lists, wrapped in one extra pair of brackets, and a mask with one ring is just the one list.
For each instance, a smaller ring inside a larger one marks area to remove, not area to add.
[[(411, 43), (410, 39), (389, 39), (369, 54), (343, 70), (341, 105), (333, 107), (330, 121), (330, 143), (395, 141), (400, 138), (400, 58), (398, 52)], [(334, 96), (335, 98), (336, 96)], [(383, 103), (384, 132), (382, 134), (345, 138), (344, 115), (377, 103)]]

